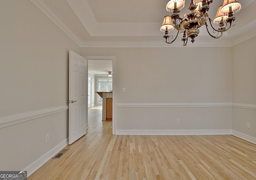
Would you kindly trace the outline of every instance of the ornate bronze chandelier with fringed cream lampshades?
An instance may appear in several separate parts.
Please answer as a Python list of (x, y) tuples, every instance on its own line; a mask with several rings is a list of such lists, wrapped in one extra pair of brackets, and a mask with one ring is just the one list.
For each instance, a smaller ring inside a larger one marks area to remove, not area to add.
[[(172, 44), (179, 32), (183, 34), (181, 40), (183, 45), (187, 45), (188, 38), (191, 38), (191, 42), (194, 43), (196, 36), (199, 34), (199, 28), (206, 26), (208, 34), (215, 39), (222, 36), (223, 32), (226, 32), (232, 22), (235, 20), (234, 13), (241, 10), (242, 6), (238, 0), (224, 0), (223, 4), (218, 7), (216, 17), (213, 23), (218, 24), (219, 28), (214, 28), (212, 19), (206, 13), (209, 9), (213, 0), (191, 0), (188, 9), (191, 11), (189, 14), (185, 14), (183, 18), (180, 18), (180, 10), (184, 8), (186, 0), (169, 0), (166, 4), (166, 10), (173, 12), (171, 16), (164, 16), (164, 22), (160, 28), (162, 32), (165, 32), (164, 38), (167, 44)], [(173, 22), (172, 22), (173, 20)], [(207, 20), (212, 28), (212, 34), (209, 31)], [(168, 35), (168, 32), (174, 30), (178, 31), (176, 37)], [(173, 39), (170, 41), (169, 39)]]

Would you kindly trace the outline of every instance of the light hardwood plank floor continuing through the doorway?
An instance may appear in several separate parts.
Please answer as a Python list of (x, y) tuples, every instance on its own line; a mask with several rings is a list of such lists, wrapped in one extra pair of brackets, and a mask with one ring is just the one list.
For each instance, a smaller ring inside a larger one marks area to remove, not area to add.
[(87, 134), (28, 180), (256, 180), (256, 145), (232, 135), (112, 135), (100, 107)]

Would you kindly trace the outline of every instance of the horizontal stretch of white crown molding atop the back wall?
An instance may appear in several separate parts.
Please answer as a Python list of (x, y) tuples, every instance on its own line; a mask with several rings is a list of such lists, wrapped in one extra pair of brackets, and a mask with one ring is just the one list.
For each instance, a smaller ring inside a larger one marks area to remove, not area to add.
[[(84, 41), (81, 44), (81, 47), (183, 47), (182, 42), (175, 42), (173, 44), (166, 44), (164, 41)], [(230, 41), (196, 41), (194, 44), (188, 42), (188, 45), (185, 47), (231, 47)]]

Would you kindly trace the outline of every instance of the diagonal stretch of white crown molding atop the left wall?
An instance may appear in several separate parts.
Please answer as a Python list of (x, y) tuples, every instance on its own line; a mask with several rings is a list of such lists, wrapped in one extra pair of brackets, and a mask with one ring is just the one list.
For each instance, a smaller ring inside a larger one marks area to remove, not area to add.
[(58, 26), (68, 37), (70, 37), (79, 47), (82, 39), (69, 26), (69, 24), (58, 14), (47, 0), (30, 0), (42, 13), (44, 13), (56, 26)]

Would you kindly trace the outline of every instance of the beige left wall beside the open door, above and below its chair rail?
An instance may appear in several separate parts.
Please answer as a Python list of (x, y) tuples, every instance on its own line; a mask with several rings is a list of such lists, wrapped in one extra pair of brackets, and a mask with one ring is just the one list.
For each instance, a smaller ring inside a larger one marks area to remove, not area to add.
[[(29, 0), (0, 1), (0, 19), (0, 118), (67, 105), (68, 51), (80, 47)], [(68, 111), (0, 128), (0, 170), (23, 170), (67, 137)]]

